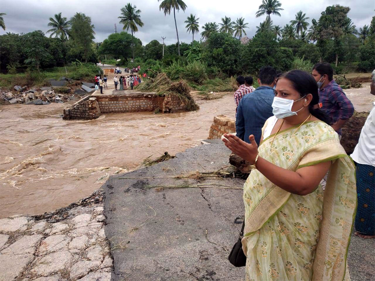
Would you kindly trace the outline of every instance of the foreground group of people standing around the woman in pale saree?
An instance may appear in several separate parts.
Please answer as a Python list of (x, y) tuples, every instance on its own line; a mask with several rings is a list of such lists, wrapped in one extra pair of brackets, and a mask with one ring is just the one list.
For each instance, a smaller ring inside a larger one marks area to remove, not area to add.
[(311, 74), (265, 66), (258, 77), (257, 89), (250, 76), (237, 77), (236, 135), (223, 138), (252, 169), (243, 193), (245, 279), (348, 280), (357, 197), (356, 235), (374, 237), (375, 107), (355, 166), (340, 144), (354, 106), (330, 64)]

